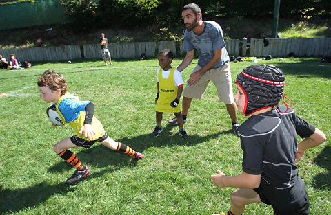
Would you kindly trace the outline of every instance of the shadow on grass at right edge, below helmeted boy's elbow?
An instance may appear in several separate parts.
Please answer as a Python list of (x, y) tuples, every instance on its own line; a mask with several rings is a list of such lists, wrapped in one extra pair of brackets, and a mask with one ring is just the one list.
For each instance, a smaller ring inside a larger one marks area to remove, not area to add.
[(325, 146), (323, 150), (317, 155), (314, 163), (322, 168), (325, 168), (327, 173), (320, 173), (314, 176), (314, 183), (312, 184), (314, 188), (323, 189), (331, 188), (331, 146)]

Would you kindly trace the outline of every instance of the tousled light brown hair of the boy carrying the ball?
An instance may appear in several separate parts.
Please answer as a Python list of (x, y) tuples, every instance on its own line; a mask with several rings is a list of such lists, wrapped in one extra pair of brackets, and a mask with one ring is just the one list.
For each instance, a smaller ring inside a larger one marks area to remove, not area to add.
[(60, 89), (61, 95), (68, 91), (68, 84), (66, 80), (59, 73), (46, 70), (43, 75), (38, 78), (39, 87), (50, 87), (52, 91)]

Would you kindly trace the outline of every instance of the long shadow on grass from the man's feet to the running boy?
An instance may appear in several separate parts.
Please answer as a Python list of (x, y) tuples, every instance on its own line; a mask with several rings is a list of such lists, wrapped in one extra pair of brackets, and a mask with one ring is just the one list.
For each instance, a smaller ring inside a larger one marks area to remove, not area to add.
[[(163, 147), (163, 146), (194, 146), (199, 144), (200, 142), (205, 142), (208, 139), (217, 138), (221, 134), (233, 134), (232, 130), (222, 131), (219, 133), (214, 133), (205, 136), (199, 136), (197, 134), (190, 135), (189, 139), (183, 139), (178, 133), (172, 135), (171, 130), (178, 129), (178, 126), (167, 125), (163, 127), (162, 133), (160, 133), (159, 137), (153, 137), (151, 133), (139, 135), (137, 137), (124, 137), (122, 139), (115, 139), (117, 142), (122, 142), (127, 146), (130, 146), (133, 150), (137, 152), (143, 152), (146, 148), (149, 147)], [(234, 135), (234, 134), (233, 134)], [(74, 149), (72, 149), (74, 152)], [(75, 152), (74, 152), (75, 153)], [(114, 172), (123, 167), (127, 166), (135, 166), (137, 163), (136, 160), (132, 160), (132, 158), (124, 153), (117, 152), (115, 150), (111, 150), (96, 142), (92, 148), (86, 148), (81, 150), (81, 152), (75, 153), (77, 157), (83, 162), (83, 164), (98, 166), (99, 168), (107, 167), (106, 171)], [(55, 153), (54, 153), (54, 156)], [(59, 157), (59, 159), (61, 159)], [(148, 157), (144, 157), (143, 159), (148, 159)], [(140, 161), (139, 161), (140, 162)], [(48, 168), (48, 172), (63, 172), (70, 171), (74, 172), (74, 168), (65, 161), (59, 162), (50, 168)], [(91, 170), (92, 171), (92, 170)], [(93, 172), (93, 171), (92, 171)], [(72, 173), (68, 173), (68, 177), (70, 177)], [(93, 177), (100, 177), (104, 173), (101, 172), (93, 172)]]

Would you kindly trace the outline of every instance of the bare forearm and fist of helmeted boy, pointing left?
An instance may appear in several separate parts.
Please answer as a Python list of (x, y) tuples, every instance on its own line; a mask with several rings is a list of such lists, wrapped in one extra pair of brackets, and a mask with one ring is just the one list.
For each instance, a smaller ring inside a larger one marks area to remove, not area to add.
[(212, 183), (217, 188), (258, 188), (261, 183), (261, 174), (248, 174), (243, 172), (236, 176), (227, 177), (223, 172), (217, 170), (218, 174), (212, 175)]

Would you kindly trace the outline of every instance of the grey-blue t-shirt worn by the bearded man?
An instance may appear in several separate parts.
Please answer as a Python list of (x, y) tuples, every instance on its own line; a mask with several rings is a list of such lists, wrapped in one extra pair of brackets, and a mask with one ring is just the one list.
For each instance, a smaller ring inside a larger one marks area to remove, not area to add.
[(198, 65), (205, 66), (214, 56), (214, 51), (222, 49), (222, 58), (212, 69), (225, 65), (230, 61), (228, 52), (225, 49), (225, 41), (221, 26), (214, 21), (203, 21), (205, 28), (201, 34), (195, 34), (193, 30), (185, 30), (184, 50), (192, 51), (197, 49), (199, 54)]

